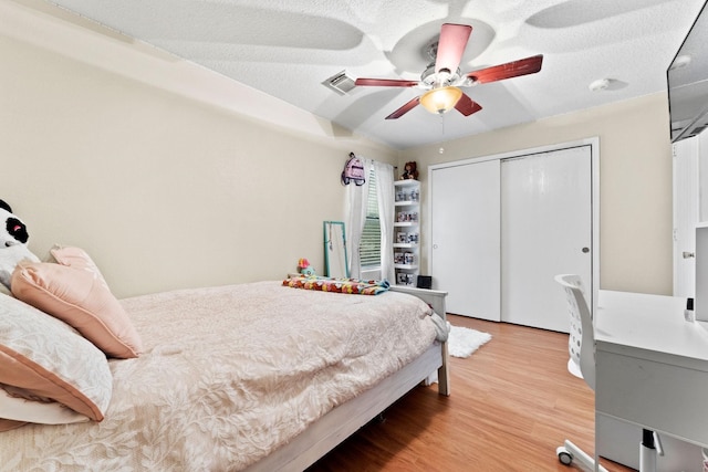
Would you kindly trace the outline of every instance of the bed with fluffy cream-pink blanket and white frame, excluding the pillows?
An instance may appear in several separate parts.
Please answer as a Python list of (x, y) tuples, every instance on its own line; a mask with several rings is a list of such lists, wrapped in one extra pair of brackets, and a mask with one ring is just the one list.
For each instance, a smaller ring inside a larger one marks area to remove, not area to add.
[(449, 395), (444, 292), (267, 281), (118, 304), (140, 353), (108, 358), (110, 399), (0, 432), (0, 470), (299, 471), (431, 374)]

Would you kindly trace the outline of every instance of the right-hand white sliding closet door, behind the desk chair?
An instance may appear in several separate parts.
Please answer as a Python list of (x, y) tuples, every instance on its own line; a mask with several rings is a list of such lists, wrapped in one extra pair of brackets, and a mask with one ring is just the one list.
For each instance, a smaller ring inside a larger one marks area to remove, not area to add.
[(569, 332), (556, 274), (579, 274), (592, 307), (590, 146), (501, 164), (501, 318)]

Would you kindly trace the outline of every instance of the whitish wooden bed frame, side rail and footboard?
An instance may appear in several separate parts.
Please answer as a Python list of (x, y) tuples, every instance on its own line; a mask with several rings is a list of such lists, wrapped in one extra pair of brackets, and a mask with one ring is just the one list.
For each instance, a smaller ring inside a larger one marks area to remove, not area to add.
[[(447, 292), (393, 285), (392, 292), (415, 295), (445, 319)], [(447, 343), (435, 344), (420, 357), (385, 378), (374, 388), (340, 405), (278, 451), (247, 469), (248, 472), (293, 471), (312, 465), (410, 389), (438, 370), (438, 392), (450, 395)]]

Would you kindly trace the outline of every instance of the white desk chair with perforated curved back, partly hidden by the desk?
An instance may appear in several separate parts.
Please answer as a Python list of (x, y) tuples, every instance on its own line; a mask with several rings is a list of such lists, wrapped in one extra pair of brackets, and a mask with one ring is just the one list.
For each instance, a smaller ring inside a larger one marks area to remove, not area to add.
[[(583, 292), (583, 284), (580, 276), (574, 274), (561, 274), (555, 276), (555, 281), (565, 290), (568, 298), (568, 312), (571, 318), (571, 329), (569, 338), (570, 360), (568, 369), (580, 376), (595, 390), (595, 328), (593, 318), (587, 306), (587, 301)], [(639, 471), (656, 472), (656, 454), (663, 454), (658, 436), (649, 430), (644, 430), (641, 443)], [(555, 450), (561, 463), (570, 465), (576, 460), (585, 468), (607, 472), (605, 468), (595, 464), (595, 459), (583, 452), (577, 445), (565, 440), (564, 444)]]

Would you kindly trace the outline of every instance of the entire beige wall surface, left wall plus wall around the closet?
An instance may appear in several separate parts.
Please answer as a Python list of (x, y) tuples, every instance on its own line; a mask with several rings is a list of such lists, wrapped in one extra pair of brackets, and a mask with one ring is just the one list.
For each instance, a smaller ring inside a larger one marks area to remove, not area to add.
[(352, 150), (417, 160), (426, 185), (430, 164), (592, 136), (602, 287), (671, 291), (664, 94), (397, 153), (42, 1), (0, 17), (0, 198), (34, 252), (84, 247), (118, 296), (322, 271)]

